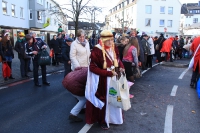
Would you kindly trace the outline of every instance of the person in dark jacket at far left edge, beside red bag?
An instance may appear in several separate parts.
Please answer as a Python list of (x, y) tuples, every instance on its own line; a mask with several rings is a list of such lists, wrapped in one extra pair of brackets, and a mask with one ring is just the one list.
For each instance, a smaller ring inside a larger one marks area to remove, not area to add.
[(12, 75), (12, 59), (14, 58), (13, 47), (10, 40), (10, 33), (6, 32), (2, 39), (2, 60), (7, 62), (8, 66), (11, 69), (10, 77), (4, 77), (4, 80), (15, 79)]

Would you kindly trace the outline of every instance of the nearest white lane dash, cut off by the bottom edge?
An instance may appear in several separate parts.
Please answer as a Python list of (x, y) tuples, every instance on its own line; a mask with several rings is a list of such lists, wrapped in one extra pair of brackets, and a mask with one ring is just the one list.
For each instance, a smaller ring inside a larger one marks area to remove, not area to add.
[(172, 133), (172, 117), (173, 117), (173, 105), (167, 106), (167, 112), (165, 116), (164, 133)]

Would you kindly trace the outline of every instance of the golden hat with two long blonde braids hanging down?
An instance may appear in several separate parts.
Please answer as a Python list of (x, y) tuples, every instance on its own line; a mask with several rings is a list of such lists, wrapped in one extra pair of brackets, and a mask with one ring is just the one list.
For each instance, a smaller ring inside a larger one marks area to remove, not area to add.
[[(103, 69), (107, 69), (107, 63), (106, 63), (106, 51), (105, 51), (105, 46), (104, 46), (104, 42), (110, 39), (113, 39), (113, 34), (111, 31), (109, 30), (103, 30), (101, 32), (101, 38), (100, 38), (100, 44), (102, 46), (102, 52), (103, 52)], [(116, 53), (115, 53), (115, 46), (114, 46), (114, 42), (112, 44), (112, 50), (113, 50), (113, 54), (114, 54), (114, 66), (118, 67), (118, 63), (117, 63), (117, 59), (116, 59)]]

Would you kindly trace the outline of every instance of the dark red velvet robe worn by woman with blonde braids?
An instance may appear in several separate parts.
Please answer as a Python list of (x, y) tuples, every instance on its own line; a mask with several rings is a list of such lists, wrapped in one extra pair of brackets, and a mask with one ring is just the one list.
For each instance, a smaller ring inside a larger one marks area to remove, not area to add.
[[(124, 68), (122, 62), (119, 59), (118, 49), (115, 47), (116, 57), (119, 62), (119, 67)], [(96, 92), (96, 97), (102, 102), (106, 103), (107, 100), (107, 77), (112, 77), (112, 72), (103, 69), (103, 53), (102, 50), (94, 47), (91, 51), (91, 62), (90, 71), (99, 75), (99, 84)], [(112, 61), (106, 56), (107, 67), (110, 68), (113, 64)], [(93, 124), (99, 122), (99, 124), (104, 124), (106, 116), (106, 105), (103, 106), (102, 110), (96, 108), (92, 103), (87, 101), (86, 103), (86, 123)]]

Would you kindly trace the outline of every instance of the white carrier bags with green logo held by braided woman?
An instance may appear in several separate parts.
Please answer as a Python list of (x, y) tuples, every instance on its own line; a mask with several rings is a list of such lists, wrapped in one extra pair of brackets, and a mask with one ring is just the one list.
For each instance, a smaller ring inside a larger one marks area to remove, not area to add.
[(111, 78), (108, 103), (125, 111), (131, 108), (126, 76), (122, 75), (119, 80)]

